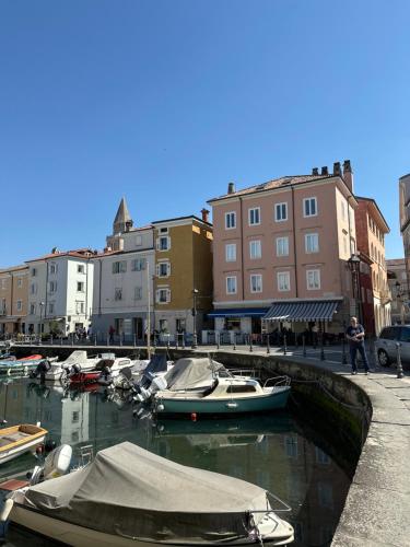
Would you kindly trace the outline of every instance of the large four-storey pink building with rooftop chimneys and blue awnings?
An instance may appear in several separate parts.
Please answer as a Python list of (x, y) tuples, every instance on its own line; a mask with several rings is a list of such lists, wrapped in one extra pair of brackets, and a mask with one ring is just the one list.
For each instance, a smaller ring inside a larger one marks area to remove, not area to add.
[[(211, 199), (215, 330), (339, 334), (355, 313), (348, 260), (356, 251), (350, 161)], [(270, 319), (261, 322), (261, 318)], [(269, 325), (269, 326), (267, 326)]]

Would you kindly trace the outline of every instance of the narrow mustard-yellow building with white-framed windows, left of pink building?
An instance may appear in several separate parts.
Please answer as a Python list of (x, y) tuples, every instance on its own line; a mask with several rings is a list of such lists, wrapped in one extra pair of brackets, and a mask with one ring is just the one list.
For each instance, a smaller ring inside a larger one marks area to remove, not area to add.
[(198, 217), (153, 222), (155, 238), (154, 329), (169, 335), (194, 335), (212, 307), (212, 224)]

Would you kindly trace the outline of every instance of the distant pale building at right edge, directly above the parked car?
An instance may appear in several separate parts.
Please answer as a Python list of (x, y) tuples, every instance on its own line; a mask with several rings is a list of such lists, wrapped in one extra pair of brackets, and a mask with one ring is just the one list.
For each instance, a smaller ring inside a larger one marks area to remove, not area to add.
[(406, 259), (386, 260), (387, 281), (391, 292), (391, 324), (410, 323), (409, 280)]

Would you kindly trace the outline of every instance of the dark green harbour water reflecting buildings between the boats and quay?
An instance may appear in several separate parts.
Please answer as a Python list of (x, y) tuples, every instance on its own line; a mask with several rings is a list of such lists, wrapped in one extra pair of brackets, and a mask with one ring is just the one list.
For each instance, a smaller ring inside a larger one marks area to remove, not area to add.
[[(136, 418), (130, 401), (107, 391), (74, 392), (21, 379), (0, 383), (0, 418), (9, 424), (40, 421), (50, 440), (72, 445), (75, 459), (81, 446), (96, 453), (130, 441), (180, 464), (259, 485), (291, 505), (282, 516), (295, 528), (295, 547), (330, 545), (351, 481), (324, 449), (326, 440), (290, 411), (153, 421), (147, 414)], [(0, 477), (24, 475), (35, 464), (33, 455), (21, 456), (3, 464)], [(11, 526), (5, 545), (55, 543)]]

